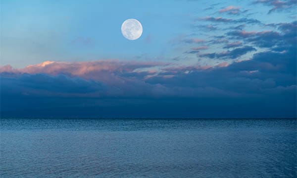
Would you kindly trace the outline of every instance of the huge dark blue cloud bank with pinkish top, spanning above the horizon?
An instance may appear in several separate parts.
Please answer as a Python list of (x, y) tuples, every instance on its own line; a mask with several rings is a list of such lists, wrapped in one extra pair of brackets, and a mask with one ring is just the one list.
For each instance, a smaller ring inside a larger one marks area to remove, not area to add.
[[(296, 117), (294, 55), (262, 52), (215, 66), (93, 61), (90, 65), (100, 67), (88, 69), (88, 62), (53, 62), (38, 65), (38, 72), (6, 67), (0, 74), (1, 116)], [(234, 106), (243, 107), (208, 113)], [(271, 108), (277, 108), (273, 114)]]

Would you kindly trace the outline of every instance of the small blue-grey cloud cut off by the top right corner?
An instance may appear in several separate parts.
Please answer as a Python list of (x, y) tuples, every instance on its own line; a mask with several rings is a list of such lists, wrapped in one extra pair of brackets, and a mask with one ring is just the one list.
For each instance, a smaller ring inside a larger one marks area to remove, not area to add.
[(268, 13), (271, 13), (273, 11), (281, 11), (296, 7), (297, 0), (256, 0), (253, 3), (273, 6), (273, 8), (268, 11)]

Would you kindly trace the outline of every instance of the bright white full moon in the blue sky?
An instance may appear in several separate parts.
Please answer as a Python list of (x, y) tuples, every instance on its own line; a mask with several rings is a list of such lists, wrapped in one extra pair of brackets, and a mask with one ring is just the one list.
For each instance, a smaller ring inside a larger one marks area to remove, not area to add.
[(142, 34), (142, 25), (138, 20), (131, 18), (123, 22), (121, 30), (125, 38), (136, 40)]

